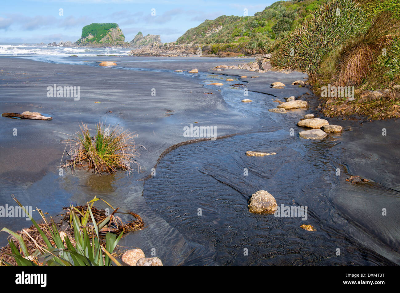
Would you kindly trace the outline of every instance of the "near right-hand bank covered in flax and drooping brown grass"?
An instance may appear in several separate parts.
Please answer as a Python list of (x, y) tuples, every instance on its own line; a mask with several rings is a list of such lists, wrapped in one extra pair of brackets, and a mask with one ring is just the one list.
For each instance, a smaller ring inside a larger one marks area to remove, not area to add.
[(355, 88), (355, 99), (322, 98), (326, 116), (400, 117), (400, 2), (330, 0), (278, 45), (272, 65), (310, 74), (322, 86)]

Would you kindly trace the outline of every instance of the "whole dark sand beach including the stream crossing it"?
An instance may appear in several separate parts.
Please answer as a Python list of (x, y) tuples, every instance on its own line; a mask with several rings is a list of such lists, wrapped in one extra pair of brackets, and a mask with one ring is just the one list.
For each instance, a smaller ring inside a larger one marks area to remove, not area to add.
[[(146, 255), (154, 248), (166, 265), (400, 264), (397, 121), (329, 118), (330, 124), (345, 131), (321, 141), (302, 140), (298, 132), (304, 129), (296, 126), (300, 118), (308, 113), (324, 118), (309, 88), (290, 85), (303, 79), (303, 73), (208, 71), (248, 58), (46, 61), (0, 58), (2, 113), (34, 111), (53, 117), (51, 121), (2, 117), (2, 203), (14, 205), (11, 195), (15, 195), (24, 205), (55, 216), (63, 206), (84, 204), (97, 195), (113, 206), (135, 211), (145, 221), (146, 229), (127, 235), (120, 245), (139, 247)], [(118, 65), (101, 68), (96, 63), (100, 61)], [(199, 74), (174, 72), (193, 68)], [(254, 75), (259, 77), (251, 78)], [(225, 81), (228, 76), (234, 81)], [(277, 81), (286, 88), (270, 88)], [(211, 82), (224, 86), (207, 85)], [(243, 96), (243, 88), (230, 86), (235, 83), (245, 84), (248, 96)], [(47, 87), (54, 84), (80, 86), (80, 99), (48, 98)], [(307, 100), (310, 107), (287, 114), (268, 112), (276, 107), (274, 100), (289, 96)], [(254, 102), (242, 103), (243, 98)], [(125, 172), (99, 176), (86, 171), (59, 176), (62, 140), (78, 131), (81, 122), (94, 126), (99, 121), (138, 133), (135, 142), (143, 146), (137, 160), (142, 171), (132, 177)], [(173, 147), (160, 158), (170, 147), (193, 139), (183, 136), (190, 124), (216, 127), (218, 137), (228, 137)], [(289, 135), (291, 128), (294, 136)], [(244, 155), (247, 150), (277, 155), (255, 159)], [(156, 176), (146, 179), (155, 165)], [(246, 177), (244, 168), (249, 169)], [(340, 176), (335, 175), (337, 168)], [(350, 175), (370, 182), (354, 185), (345, 181)], [(249, 213), (247, 201), (260, 189), (273, 194), (278, 205), (308, 206), (308, 220)], [(201, 217), (198, 208), (204, 212)], [(0, 226), (12, 230), (29, 223), (0, 218)], [(304, 223), (317, 231), (301, 229)], [(0, 245), (7, 243), (6, 237), (0, 234)], [(340, 257), (335, 255), (337, 248)]]

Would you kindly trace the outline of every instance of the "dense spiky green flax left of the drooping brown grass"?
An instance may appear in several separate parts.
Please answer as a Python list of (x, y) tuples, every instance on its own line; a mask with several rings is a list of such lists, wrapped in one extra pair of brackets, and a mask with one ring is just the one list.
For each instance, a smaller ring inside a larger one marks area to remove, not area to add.
[[(337, 9), (340, 14), (337, 15)], [(352, 38), (365, 33), (365, 13), (353, 0), (332, 0), (282, 41), (274, 66), (301, 69), (314, 74), (322, 57)]]

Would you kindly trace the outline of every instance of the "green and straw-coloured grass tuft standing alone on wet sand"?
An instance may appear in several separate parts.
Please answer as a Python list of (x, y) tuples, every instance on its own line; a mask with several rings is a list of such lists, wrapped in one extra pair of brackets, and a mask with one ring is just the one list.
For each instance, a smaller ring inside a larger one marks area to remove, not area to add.
[(61, 167), (85, 167), (94, 169), (95, 173), (112, 173), (117, 170), (134, 171), (136, 165), (140, 171), (140, 164), (135, 161), (139, 156), (134, 137), (137, 134), (122, 130), (119, 126), (106, 127), (97, 123), (95, 136), (87, 124), (82, 123), (80, 132), (74, 134), (65, 142), (66, 163)]

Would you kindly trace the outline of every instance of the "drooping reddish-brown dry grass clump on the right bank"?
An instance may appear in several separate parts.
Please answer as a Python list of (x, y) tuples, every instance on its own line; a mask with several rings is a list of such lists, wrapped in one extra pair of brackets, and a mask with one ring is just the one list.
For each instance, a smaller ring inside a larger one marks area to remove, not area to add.
[(372, 70), (377, 56), (398, 34), (400, 21), (392, 18), (392, 13), (382, 12), (366, 34), (350, 41), (342, 50), (337, 65), (339, 72), (336, 84), (348, 86), (361, 84)]

